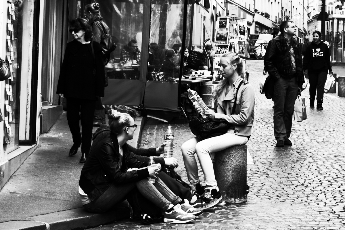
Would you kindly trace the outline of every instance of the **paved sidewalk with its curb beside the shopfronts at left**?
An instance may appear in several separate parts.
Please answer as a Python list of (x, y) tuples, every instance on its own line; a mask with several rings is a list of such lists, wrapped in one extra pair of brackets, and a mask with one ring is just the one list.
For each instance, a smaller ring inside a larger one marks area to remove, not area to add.
[[(141, 130), (142, 118), (135, 123)], [(129, 144), (137, 146), (139, 134)], [(71, 146), (72, 135), (63, 112), (0, 191), (0, 230), (86, 229), (130, 216), (126, 204), (105, 214), (84, 211), (78, 195), (81, 151), (79, 148), (69, 157)]]

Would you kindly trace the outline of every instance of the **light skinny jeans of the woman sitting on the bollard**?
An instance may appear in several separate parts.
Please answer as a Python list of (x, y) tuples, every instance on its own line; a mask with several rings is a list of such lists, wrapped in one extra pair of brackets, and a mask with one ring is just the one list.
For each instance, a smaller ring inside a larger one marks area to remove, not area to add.
[(225, 133), (202, 141), (195, 137), (183, 143), (181, 150), (189, 182), (193, 185), (200, 183), (195, 153), (203, 170), (207, 188), (214, 189), (217, 186), (217, 181), (210, 153), (218, 152), (231, 146), (243, 145), (247, 142), (248, 137), (246, 136)]

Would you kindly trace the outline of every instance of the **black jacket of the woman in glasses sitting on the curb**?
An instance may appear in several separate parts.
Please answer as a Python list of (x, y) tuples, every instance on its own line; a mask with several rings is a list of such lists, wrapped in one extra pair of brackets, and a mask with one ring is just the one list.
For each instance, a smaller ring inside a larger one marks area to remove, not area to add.
[[(129, 168), (147, 167), (147, 162), (140, 162), (134, 153), (129, 151), (128, 144), (122, 146), (123, 157), (119, 153), (116, 134), (110, 137), (96, 134), (84, 167), (81, 170), (79, 186), (95, 201), (107, 190), (110, 184), (125, 184), (149, 177), (148, 169), (133, 170)], [(146, 151), (149, 151), (148, 149)]]

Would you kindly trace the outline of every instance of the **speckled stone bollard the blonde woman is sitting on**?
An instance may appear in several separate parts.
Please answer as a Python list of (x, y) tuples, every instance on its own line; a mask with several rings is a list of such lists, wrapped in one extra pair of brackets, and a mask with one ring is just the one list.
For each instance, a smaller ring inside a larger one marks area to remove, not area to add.
[(226, 203), (247, 202), (247, 146), (233, 146), (215, 153), (215, 176)]

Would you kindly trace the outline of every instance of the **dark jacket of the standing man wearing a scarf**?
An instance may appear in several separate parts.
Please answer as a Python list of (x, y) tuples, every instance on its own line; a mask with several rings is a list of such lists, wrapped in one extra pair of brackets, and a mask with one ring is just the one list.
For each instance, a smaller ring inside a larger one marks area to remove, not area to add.
[[(264, 58), (265, 70), (267, 70), (269, 75), (274, 79), (278, 79), (280, 77), (291, 78), (292, 76), (284, 75), (283, 69), (281, 67), (285, 52), (283, 52), (280, 37), (281, 36), (277, 36), (268, 42)], [(298, 42), (295, 39), (293, 39), (291, 42), (294, 42), (295, 45), (298, 46)], [(298, 62), (296, 62), (297, 82), (303, 84), (304, 78), (303, 72), (301, 71), (302, 66), (299, 67), (298, 65)]]

